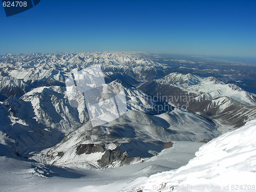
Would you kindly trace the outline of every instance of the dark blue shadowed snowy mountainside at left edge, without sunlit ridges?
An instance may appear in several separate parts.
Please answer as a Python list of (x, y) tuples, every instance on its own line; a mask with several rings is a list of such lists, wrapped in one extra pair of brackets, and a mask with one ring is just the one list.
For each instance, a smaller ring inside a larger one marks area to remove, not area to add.
[(18, 156), (30, 157), (57, 144), (64, 134), (36, 121), (31, 103), (9, 97), (0, 103), (1, 144)]

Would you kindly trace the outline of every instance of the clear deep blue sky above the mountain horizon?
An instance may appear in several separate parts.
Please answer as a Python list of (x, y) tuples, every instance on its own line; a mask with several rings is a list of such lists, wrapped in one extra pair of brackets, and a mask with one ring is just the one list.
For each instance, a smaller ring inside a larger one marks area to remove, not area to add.
[(256, 1), (41, 0), (6, 17), (0, 54), (143, 51), (256, 56)]

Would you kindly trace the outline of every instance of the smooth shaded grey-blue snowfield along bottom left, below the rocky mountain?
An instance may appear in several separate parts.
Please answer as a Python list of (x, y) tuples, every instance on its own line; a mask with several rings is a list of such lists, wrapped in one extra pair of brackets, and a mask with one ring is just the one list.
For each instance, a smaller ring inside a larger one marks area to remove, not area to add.
[(104, 169), (67, 168), (4, 156), (0, 157), (0, 191), (120, 191), (137, 178), (185, 165), (202, 145), (176, 142), (143, 163)]

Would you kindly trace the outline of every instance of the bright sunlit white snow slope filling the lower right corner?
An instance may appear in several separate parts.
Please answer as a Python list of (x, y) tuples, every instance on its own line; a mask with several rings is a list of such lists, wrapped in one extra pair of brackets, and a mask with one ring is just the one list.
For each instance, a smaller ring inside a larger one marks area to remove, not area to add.
[[(152, 175), (143, 191), (255, 191), (256, 120), (203, 145), (177, 170)], [(123, 191), (134, 191), (124, 189)]]

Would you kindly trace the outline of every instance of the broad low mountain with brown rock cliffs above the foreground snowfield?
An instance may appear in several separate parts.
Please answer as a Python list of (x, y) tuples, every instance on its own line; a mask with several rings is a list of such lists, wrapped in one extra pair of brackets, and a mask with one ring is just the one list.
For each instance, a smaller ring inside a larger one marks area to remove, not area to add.
[(87, 123), (45, 151), (44, 162), (61, 166), (112, 167), (158, 154), (172, 141), (204, 142), (219, 135), (215, 123), (174, 110), (160, 115), (128, 111), (111, 123)]

